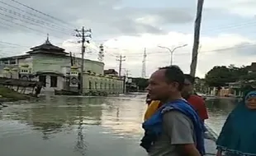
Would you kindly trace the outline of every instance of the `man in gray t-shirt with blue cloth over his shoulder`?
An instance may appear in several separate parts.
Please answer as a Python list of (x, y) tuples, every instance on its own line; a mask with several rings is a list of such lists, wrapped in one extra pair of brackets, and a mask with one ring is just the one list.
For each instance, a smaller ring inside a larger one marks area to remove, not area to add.
[(159, 68), (149, 78), (149, 98), (162, 105), (143, 123), (141, 146), (149, 156), (205, 153), (203, 127), (197, 112), (183, 99), (184, 75), (179, 67)]

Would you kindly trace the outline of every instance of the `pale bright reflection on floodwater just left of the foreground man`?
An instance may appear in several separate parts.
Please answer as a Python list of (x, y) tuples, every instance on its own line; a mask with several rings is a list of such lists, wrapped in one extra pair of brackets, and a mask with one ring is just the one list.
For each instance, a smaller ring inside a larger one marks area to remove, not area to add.
[(139, 135), (145, 104), (135, 100), (115, 100), (111, 107), (102, 110), (102, 126), (120, 135)]

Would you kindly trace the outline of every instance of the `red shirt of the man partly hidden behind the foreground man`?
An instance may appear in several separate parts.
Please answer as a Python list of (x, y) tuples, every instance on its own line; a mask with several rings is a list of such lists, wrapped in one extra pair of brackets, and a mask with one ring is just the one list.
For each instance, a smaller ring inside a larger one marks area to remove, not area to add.
[(193, 106), (193, 108), (195, 108), (196, 112), (198, 113), (202, 121), (209, 118), (206, 110), (205, 100), (202, 99), (200, 96), (192, 94), (187, 99), (187, 102), (190, 103)]

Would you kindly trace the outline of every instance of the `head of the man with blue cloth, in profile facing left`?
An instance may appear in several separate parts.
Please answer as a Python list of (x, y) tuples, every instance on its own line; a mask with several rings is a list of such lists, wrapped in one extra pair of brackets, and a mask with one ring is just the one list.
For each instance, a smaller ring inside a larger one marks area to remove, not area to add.
[(149, 78), (149, 98), (167, 100), (180, 95), (184, 79), (183, 71), (177, 66), (159, 68)]

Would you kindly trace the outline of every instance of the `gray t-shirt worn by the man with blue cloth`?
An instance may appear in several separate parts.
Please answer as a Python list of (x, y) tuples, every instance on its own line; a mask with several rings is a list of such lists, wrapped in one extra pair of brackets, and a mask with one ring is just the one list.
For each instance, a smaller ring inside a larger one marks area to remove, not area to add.
[(149, 156), (179, 156), (177, 145), (196, 143), (192, 121), (182, 112), (166, 112), (163, 128), (163, 134), (150, 149)]

